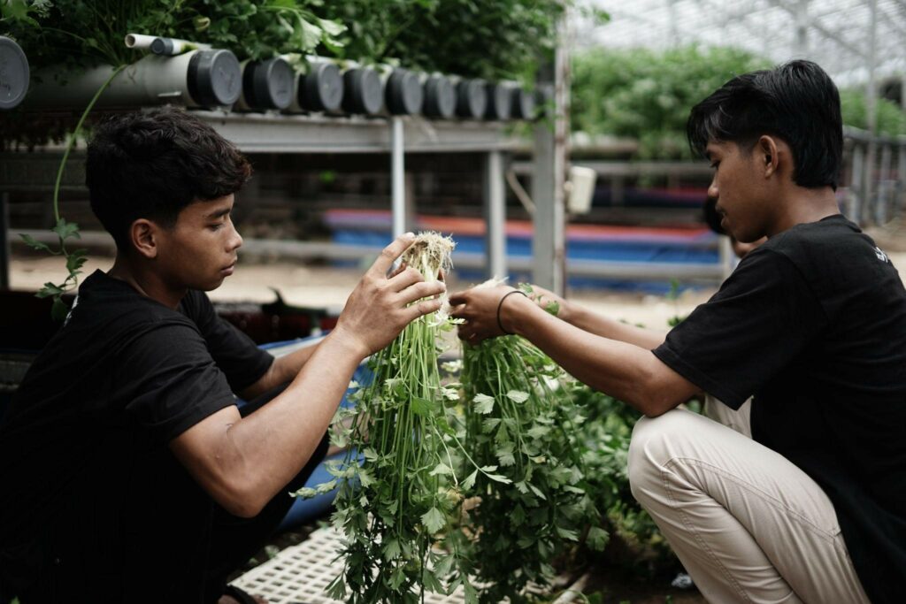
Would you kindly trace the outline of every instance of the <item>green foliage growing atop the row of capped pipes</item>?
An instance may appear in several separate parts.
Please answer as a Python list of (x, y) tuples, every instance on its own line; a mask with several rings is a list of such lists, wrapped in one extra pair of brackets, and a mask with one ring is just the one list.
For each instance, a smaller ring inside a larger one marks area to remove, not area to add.
[(320, 53), (490, 79), (534, 74), (561, 0), (2, 0), (5, 29), (36, 67), (122, 64), (128, 33), (211, 43), (240, 59)]

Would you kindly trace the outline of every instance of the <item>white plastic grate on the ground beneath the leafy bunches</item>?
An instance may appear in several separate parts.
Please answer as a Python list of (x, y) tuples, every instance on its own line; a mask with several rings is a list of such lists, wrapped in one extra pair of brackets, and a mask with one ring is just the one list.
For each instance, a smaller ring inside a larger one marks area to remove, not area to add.
[[(334, 561), (341, 549), (339, 532), (333, 527), (318, 529), (304, 542), (249, 570), (233, 581), (233, 585), (267, 599), (270, 604), (342, 604), (341, 600), (324, 595), (327, 586), (342, 571), (342, 562)], [(465, 601), (461, 587), (449, 596), (425, 593), (427, 604)]]

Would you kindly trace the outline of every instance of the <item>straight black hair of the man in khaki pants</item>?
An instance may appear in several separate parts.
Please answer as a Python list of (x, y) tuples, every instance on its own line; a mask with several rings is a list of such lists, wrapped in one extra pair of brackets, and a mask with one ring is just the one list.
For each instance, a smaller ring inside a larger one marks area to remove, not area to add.
[(689, 147), (705, 155), (710, 141), (752, 149), (762, 135), (793, 151), (793, 181), (800, 187), (834, 187), (843, 163), (840, 93), (814, 62), (791, 61), (738, 75), (692, 108)]

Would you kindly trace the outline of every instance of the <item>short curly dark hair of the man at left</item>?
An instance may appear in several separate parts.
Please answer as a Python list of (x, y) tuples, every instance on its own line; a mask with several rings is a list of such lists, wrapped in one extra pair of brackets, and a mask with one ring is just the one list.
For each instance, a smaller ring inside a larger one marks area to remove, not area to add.
[(92, 211), (121, 251), (138, 218), (164, 227), (194, 201), (236, 193), (252, 167), (233, 143), (176, 109), (104, 120), (88, 144), (85, 182)]

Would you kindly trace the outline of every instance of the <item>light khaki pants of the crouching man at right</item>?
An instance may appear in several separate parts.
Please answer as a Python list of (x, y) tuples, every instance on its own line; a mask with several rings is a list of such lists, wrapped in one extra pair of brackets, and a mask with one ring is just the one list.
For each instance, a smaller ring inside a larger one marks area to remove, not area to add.
[[(868, 602), (834, 506), (786, 457), (751, 439), (746, 403), (642, 418), (632, 494), (709, 602)], [(730, 427), (728, 427), (730, 426)], [(732, 429), (731, 429), (732, 427)]]

